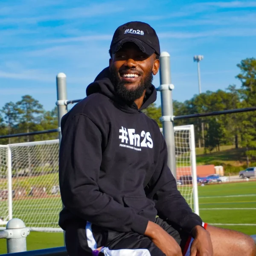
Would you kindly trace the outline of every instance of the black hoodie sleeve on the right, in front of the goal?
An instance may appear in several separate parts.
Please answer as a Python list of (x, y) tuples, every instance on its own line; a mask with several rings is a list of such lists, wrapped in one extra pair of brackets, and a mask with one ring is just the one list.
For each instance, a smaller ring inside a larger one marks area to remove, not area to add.
[(167, 166), (168, 153), (163, 136), (161, 144), (157, 168), (148, 183), (147, 196), (154, 199), (160, 218), (168, 219), (190, 234), (195, 226), (202, 225), (202, 220), (192, 212), (177, 189), (176, 180)]

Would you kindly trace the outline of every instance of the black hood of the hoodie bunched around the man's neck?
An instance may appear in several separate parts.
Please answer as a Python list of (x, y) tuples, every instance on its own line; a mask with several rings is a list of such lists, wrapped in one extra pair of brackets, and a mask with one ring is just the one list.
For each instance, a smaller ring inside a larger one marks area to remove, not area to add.
[(99, 75), (96, 76), (96, 79), (87, 86), (86, 95), (89, 96), (93, 93), (101, 93), (107, 96), (113, 102), (118, 103), (120, 105), (120, 108), (129, 112), (142, 111), (143, 109), (147, 108), (151, 103), (154, 103), (157, 99), (157, 90), (154, 85), (151, 84), (151, 87), (146, 90), (145, 99), (140, 109), (137, 108), (137, 105), (134, 102), (132, 105), (128, 105), (119, 96), (116, 95), (114, 86), (110, 80), (110, 73), (108, 67), (102, 70)]

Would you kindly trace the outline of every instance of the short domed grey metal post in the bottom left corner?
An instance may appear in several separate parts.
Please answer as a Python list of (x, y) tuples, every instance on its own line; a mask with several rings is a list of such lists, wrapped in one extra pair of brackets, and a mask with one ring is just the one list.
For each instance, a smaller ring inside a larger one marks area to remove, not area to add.
[(7, 253), (18, 253), (26, 251), (26, 237), (29, 229), (24, 222), (18, 218), (13, 218), (6, 224)]

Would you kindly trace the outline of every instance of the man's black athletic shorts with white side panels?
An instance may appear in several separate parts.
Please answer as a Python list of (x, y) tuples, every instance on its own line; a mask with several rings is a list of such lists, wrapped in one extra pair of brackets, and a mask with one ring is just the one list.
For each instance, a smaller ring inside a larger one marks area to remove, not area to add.
[[(156, 218), (155, 223), (177, 241), (183, 255), (190, 255), (192, 238), (187, 233), (180, 232), (178, 227), (161, 218)], [(165, 255), (147, 236), (135, 232), (104, 230), (90, 222), (70, 223), (66, 228), (65, 240), (69, 256), (92, 256), (93, 250), (99, 247), (103, 247), (99, 256)]]

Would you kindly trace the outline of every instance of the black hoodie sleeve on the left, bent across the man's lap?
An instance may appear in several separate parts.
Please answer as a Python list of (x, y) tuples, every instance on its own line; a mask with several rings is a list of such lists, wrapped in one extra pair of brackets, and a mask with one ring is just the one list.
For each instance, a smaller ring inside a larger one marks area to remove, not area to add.
[(61, 128), (59, 180), (65, 208), (101, 227), (145, 233), (146, 218), (99, 191), (103, 137), (98, 126), (89, 117), (79, 114)]

